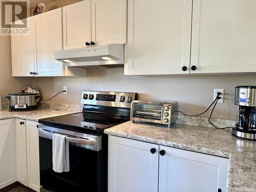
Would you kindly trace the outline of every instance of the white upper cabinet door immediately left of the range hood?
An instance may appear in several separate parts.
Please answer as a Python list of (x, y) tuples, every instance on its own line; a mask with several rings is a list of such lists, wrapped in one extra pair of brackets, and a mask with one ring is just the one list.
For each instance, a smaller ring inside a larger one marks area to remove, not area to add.
[(35, 17), (37, 76), (61, 76), (63, 65), (53, 52), (62, 50), (61, 8)]

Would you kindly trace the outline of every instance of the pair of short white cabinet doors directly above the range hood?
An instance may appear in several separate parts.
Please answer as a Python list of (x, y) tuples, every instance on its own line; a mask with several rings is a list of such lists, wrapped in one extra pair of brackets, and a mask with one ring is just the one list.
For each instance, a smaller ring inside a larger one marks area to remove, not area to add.
[(84, 0), (63, 7), (63, 49), (126, 44), (127, 0)]

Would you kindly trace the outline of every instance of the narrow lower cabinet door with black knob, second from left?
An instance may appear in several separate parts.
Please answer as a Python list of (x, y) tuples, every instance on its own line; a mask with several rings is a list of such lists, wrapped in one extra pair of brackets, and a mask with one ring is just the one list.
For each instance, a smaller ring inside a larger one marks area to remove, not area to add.
[(28, 186), (26, 121), (24, 119), (15, 119), (15, 121), (17, 180), (25, 186)]

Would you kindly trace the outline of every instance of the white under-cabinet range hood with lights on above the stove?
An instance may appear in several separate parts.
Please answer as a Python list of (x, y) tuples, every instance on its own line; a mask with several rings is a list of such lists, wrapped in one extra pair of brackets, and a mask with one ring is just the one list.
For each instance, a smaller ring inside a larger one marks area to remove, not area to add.
[(56, 60), (68, 67), (101, 69), (123, 67), (124, 45), (111, 44), (81, 49), (54, 51)]

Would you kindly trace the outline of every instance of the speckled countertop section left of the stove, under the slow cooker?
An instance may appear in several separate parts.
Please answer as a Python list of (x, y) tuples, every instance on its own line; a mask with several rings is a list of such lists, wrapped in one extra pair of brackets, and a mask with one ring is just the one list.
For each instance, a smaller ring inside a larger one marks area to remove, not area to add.
[(55, 111), (54, 109), (38, 108), (35, 111), (24, 111), (24, 112), (9, 112), (9, 110), (0, 111), (1, 119), (20, 118), (31, 121), (38, 121), (41, 118), (54, 117), (59, 115), (67, 115), (72, 113), (81, 112), (80, 109), (63, 109), (61, 111)]

